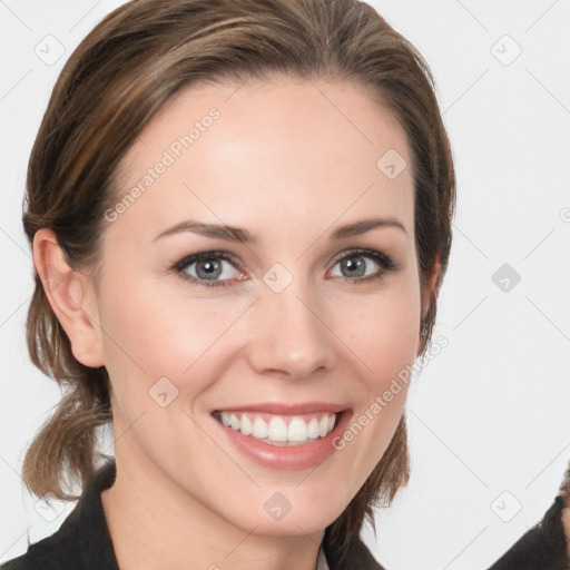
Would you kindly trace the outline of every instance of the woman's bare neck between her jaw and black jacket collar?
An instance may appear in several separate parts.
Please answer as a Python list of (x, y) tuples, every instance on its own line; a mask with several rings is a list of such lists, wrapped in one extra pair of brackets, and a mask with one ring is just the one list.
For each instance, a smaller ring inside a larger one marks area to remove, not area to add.
[(315, 570), (323, 533), (259, 535), (185, 492), (144, 454), (122, 456), (101, 502), (120, 570)]

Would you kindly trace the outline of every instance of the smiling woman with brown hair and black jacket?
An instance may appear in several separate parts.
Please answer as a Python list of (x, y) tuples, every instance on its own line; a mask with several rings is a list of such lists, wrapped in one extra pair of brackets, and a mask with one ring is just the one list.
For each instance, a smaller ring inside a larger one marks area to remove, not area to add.
[(23, 214), (28, 345), (66, 394), (22, 472), (80, 501), (4, 568), (381, 568), (358, 533), (407, 481), (454, 205), (430, 70), (370, 6), (105, 18)]

